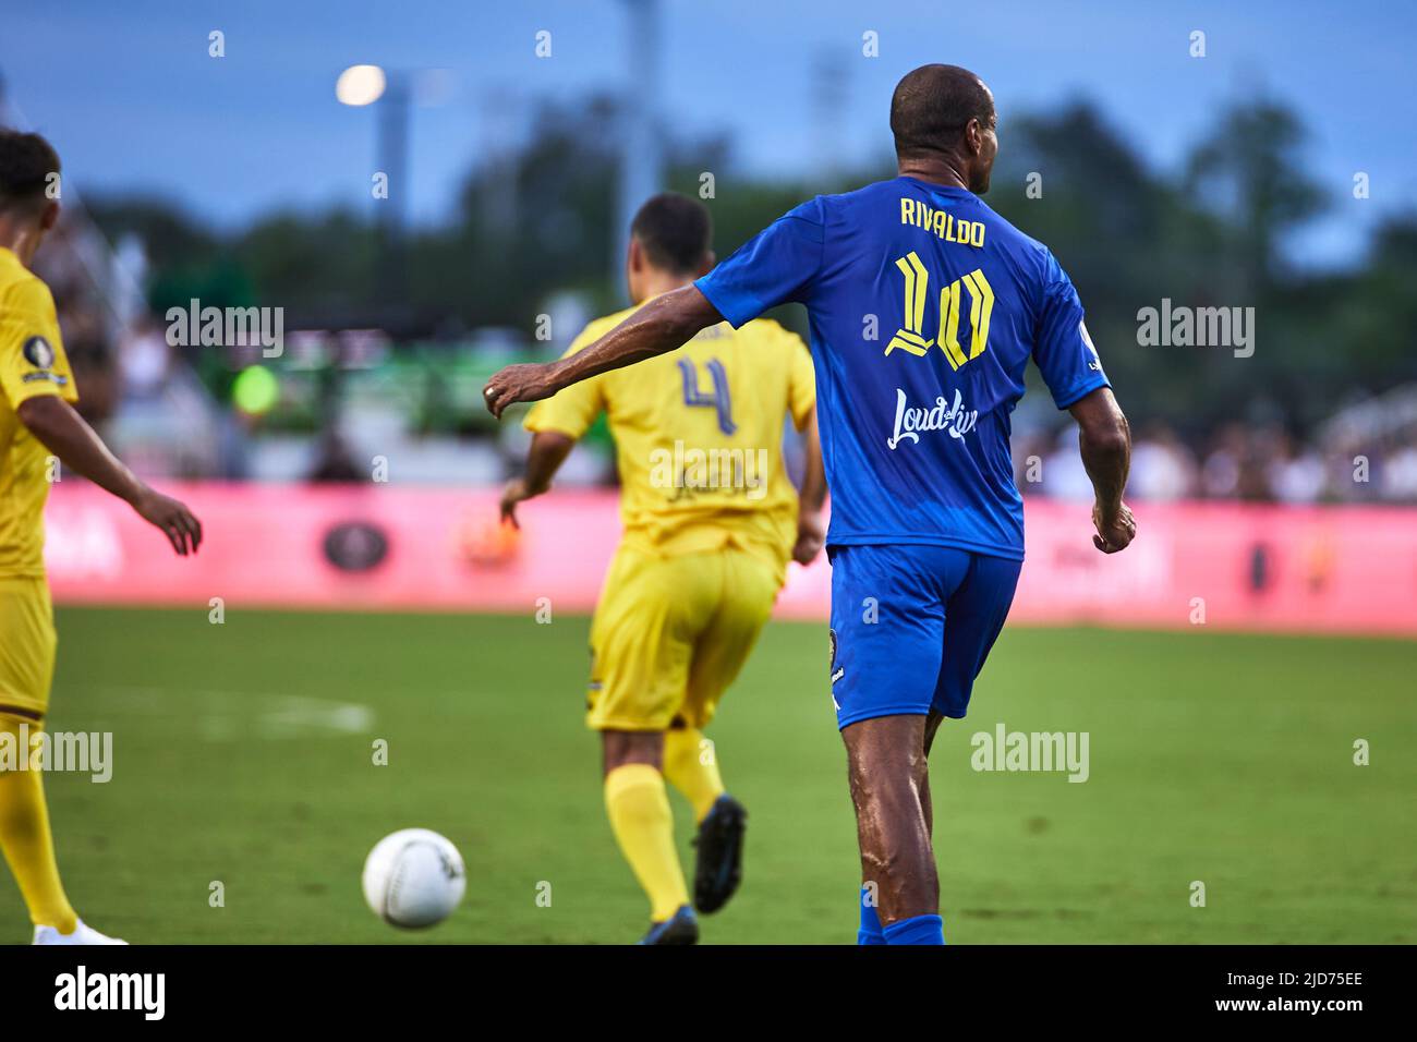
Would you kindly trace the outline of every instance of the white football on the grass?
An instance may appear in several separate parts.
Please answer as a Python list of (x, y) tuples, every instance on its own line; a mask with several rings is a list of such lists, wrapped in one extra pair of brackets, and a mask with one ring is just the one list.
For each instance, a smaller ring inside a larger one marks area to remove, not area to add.
[(364, 861), (364, 900), (393, 926), (412, 930), (441, 923), (466, 886), (458, 848), (427, 828), (384, 836)]

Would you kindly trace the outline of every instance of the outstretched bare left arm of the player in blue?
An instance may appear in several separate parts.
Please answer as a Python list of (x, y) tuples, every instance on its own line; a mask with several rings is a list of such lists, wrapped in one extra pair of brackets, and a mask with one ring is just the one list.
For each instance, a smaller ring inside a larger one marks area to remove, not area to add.
[(723, 315), (693, 285), (656, 296), (585, 350), (548, 363), (507, 366), (482, 388), (487, 411), (500, 418), (517, 401), (550, 398), (592, 376), (672, 352)]

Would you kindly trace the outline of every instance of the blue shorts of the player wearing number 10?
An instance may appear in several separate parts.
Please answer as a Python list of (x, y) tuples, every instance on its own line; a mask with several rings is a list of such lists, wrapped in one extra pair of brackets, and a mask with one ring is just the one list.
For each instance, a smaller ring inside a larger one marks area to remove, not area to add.
[(836, 726), (962, 717), (1023, 561), (948, 546), (832, 546), (828, 560)]

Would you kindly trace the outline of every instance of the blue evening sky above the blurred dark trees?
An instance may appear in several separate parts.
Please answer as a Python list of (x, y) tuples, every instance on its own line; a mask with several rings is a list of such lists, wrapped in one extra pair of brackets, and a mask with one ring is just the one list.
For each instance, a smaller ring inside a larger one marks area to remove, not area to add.
[[(1193, 0), (662, 0), (662, 112), (690, 132), (730, 132), (757, 173), (809, 170), (820, 142), (812, 68), (843, 69), (842, 159), (890, 152), (898, 77), (927, 61), (978, 71), (1010, 112), (1090, 96), (1159, 166), (1227, 101), (1267, 94), (1311, 130), (1306, 160), (1332, 191), (1301, 259), (1342, 264), (1383, 213), (1417, 196), (1411, 54), (1417, 4)], [(366, 206), (370, 109), (334, 101), (350, 64), (448, 69), (444, 103), (412, 126), (412, 211), (438, 220), (468, 167), (538, 98), (612, 88), (628, 75), (626, 0), (6, 0), (0, 72), (13, 111), (48, 133), (84, 191), (169, 194), (239, 227), (278, 206)], [(207, 55), (225, 33), (227, 57)], [(553, 57), (534, 55), (551, 33)], [(879, 34), (880, 57), (862, 55)], [(1189, 57), (1206, 33), (1207, 57)], [(1353, 200), (1352, 177), (1372, 177)]]

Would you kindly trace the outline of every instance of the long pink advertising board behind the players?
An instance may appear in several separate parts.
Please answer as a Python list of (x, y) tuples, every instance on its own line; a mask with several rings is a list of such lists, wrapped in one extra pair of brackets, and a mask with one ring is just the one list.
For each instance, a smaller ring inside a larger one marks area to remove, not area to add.
[[(555, 492), (496, 523), (495, 489), (173, 486), (207, 542), (180, 559), (128, 508), (61, 483), (45, 560), (61, 604), (533, 612), (595, 604), (619, 536), (614, 492)], [(1013, 622), (1417, 635), (1417, 509), (1142, 505), (1125, 553), (1084, 506), (1030, 500)], [(778, 612), (825, 618), (825, 559), (792, 566)]]

